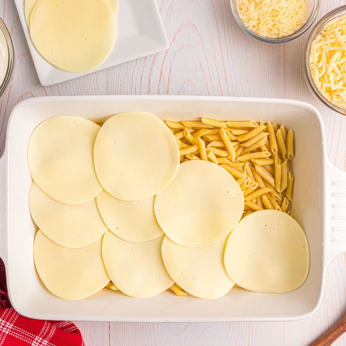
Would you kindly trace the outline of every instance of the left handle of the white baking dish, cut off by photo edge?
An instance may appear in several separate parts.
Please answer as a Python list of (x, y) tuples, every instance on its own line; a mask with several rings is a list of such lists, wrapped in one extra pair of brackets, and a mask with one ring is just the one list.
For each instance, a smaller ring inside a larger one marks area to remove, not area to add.
[(0, 258), (7, 263), (7, 151), (0, 157)]

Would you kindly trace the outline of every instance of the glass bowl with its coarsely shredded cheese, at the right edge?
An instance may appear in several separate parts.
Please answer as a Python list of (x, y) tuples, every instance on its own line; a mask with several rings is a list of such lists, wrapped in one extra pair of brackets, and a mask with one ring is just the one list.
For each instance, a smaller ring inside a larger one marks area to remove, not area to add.
[(312, 30), (305, 78), (319, 101), (346, 115), (346, 5), (329, 12)]

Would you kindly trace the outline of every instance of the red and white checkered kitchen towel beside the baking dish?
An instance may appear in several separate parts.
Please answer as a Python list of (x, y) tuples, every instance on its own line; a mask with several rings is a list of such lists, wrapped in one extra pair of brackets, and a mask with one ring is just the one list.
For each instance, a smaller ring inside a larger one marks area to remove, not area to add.
[(85, 346), (71, 321), (42, 321), (19, 315), (8, 299), (0, 258), (0, 346)]

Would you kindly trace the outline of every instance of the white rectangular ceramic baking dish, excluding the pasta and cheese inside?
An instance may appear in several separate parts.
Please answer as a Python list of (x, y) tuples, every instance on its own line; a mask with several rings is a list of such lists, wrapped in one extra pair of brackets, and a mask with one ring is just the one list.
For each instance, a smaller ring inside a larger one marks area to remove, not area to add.
[[(165, 120), (256, 120), (285, 124), (295, 131), (295, 218), (310, 246), (310, 272), (297, 290), (262, 294), (232, 289), (216, 300), (176, 297), (172, 292), (146, 299), (104, 289), (92, 297), (68, 301), (54, 297), (41, 283), (33, 262), (36, 226), (28, 208), (31, 177), (27, 144), (43, 120), (80, 116), (98, 123), (114, 113), (153, 112)], [(319, 306), (326, 266), (346, 250), (346, 174), (328, 161), (321, 116), (310, 104), (280, 99), (188, 96), (44, 97), (13, 108), (6, 148), (0, 159), (0, 257), (4, 260), (13, 307), (22, 315), (48, 320), (98, 321), (285, 321), (311, 315)]]

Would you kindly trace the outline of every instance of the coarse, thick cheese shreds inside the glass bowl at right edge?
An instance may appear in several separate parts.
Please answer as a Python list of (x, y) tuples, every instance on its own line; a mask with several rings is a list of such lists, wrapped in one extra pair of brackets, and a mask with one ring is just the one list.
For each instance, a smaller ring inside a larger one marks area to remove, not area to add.
[(310, 71), (321, 94), (346, 109), (346, 15), (329, 21), (313, 40)]

